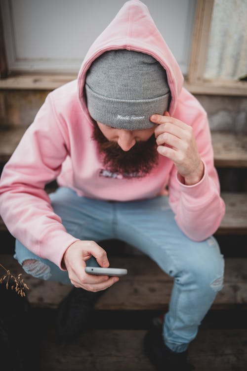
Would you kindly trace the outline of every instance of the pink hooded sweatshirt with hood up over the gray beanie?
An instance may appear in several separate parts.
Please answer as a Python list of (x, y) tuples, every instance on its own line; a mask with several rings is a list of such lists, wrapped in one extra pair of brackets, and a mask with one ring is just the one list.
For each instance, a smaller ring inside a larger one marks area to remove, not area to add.
[[(92, 121), (84, 100), (84, 80), (92, 61), (110, 49), (151, 54), (165, 68), (171, 91), (169, 114), (194, 129), (205, 165), (196, 185), (180, 183), (172, 161), (160, 155), (159, 165), (144, 178), (122, 179), (104, 171), (91, 139)], [(57, 179), (78, 195), (130, 201), (155, 197), (169, 187), (169, 203), (180, 229), (193, 240), (213, 234), (224, 215), (206, 112), (182, 88), (183, 76), (171, 51), (141, 1), (127, 1), (88, 50), (72, 81), (49, 93), (34, 122), (5, 165), (0, 182), (0, 213), (10, 233), (42, 258), (61, 268), (64, 252), (74, 241), (51, 205), (44, 185)]]

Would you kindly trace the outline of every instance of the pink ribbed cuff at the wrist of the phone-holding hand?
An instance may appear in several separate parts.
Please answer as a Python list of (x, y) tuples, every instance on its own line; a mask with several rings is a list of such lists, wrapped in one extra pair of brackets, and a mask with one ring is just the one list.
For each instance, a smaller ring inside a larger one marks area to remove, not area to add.
[[(41, 242), (40, 257), (50, 260), (62, 271), (67, 271), (67, 269), (62, 266), (64, 253), (72, 243), (80, 239), (61, 230), (46, 233), (46, 236), (43, 236)], [(49, 248), (47, 248), (47, 246), (49, 246)]]

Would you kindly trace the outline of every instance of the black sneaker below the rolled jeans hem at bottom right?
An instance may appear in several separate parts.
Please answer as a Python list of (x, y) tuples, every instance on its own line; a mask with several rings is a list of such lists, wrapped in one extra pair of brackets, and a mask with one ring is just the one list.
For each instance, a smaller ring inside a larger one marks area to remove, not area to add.
[(144, 337), (144, 351), (157, 371), (192, 371), (195, 367), (186, 362), (187, 351), (173, 352), (164, 343), (163, 324), (159, 318), (153, 319)]

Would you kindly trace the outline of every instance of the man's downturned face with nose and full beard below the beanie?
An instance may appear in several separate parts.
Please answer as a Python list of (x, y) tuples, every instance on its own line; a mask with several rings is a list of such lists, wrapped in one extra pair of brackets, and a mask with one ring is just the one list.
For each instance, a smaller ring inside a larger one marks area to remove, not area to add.
[(143, 177), (158, 165), (154, 130), (127, 131), (94, 121), (92, 139), (97, 142), (107, 170), (125, 178)]

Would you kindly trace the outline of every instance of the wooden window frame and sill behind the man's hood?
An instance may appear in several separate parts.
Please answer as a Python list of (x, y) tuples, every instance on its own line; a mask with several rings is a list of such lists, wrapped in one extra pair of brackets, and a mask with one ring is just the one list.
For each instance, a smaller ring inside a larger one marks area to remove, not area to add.
[[(189, 71), (184, 87), (194, 94), (247, 96), (245, 81), (204, 79), (213, 3), (214, 0), (197, 0)], [(68, 73), (9, 73), (0, 10), (0, 89), (52, 90), (76, 78), (77, 74)]]

